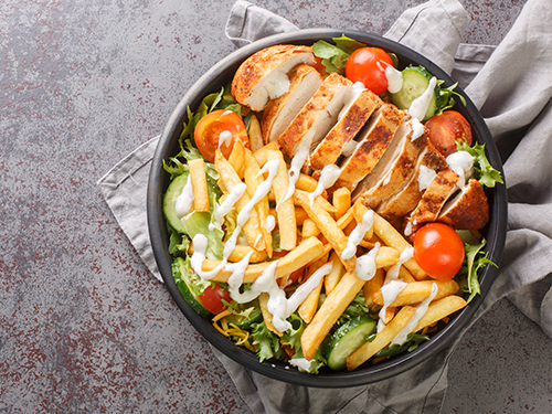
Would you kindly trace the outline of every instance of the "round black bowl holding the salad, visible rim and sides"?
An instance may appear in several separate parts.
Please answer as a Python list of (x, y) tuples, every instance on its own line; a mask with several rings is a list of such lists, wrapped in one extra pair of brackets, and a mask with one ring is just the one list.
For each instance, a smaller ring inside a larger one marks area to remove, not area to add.
[[(497, 268), (487, 266), (479, 278), (481, 296), (477, 296), (467, 307), (452, 318), (449, 323), (440, 331), (436, 332), (431, 341), (424, 342), (416, 350), (375, 365), (362, 365), (352, 372), (333, 372), (328, 370), (320, 372), (318, 375), (301, 373), (293, 368), (289, 369), (287, 363), (283, 361), (270, 360), (259, 363), (254, 353), (247, 351), (243, 347), (235, 346), (234, 342), (219, 333), (211, 326), (210, 320), (200, 317), (183, 299), (171, 274), (172, 258), (168, 253), (169, 236), (162, 213), (162, 198), (170, 181), (169, 174), (163, 170), (163, 160), (167, 160), (171, 156), (176, 156), (180, 150), (178, 140), (182, 131), (182, 123), (187, 120), (187, 107), (189, 106), (194, 110), (205, 95), (219, 92), (221, 86), (232, 79), (240, 64), (251, 54), (263, 47), (279, 43), (310, 45), (320, 39), (331, 42), (332, 38), (339, 38), (342, 34), (395, 53), (399, 57), (400, 68), (405, 67), (410, 63), (418, 64), (425, 66), (429, 73), (437, 78), (445, 81), (445, 86), (454, 84), (454, 81), (443, 70), (417, 52), (394, 41), (373, 34), (354, 30), (312, 29), (265, 38), (235, 51), (215, 64), (210, 71), (201, 76), (177, 105), (163, 129), (156, 149), (149, 176), (147, 199), (149, 234), (159, 270), (161, 272), (174, 302), (194, 328), (216, 349), (245, 368), (279, 381), (318, 388), (364, 385), (397, 375), (427, 360), (433, 354), (443, 350), (454, 338), (461, 335), (470, 323), (474, 314), (479, 308), (482, 298), (488, 293), (498, 274)], [(466, 98), (467, 105), (465, 107), (463, 105), (457, 105), (458, 108), (455, 109), (460, 112), (471, 124), (475, 140), (486, 144), (489, 161), (503, 177), (500, 157), (485, 120), (481, 118), (471, 100), (459, 87), (456, 88), (456, 92)], [(489, 252), (489, 259), (498, 264), (500, 263), (506, 238), (506, 187), (503, 184), (498, 184), (495, 189), (488, 191), (488, 198), (490, 203), (490, 222), (481, 232), (487, 238), (486, 250)]]

